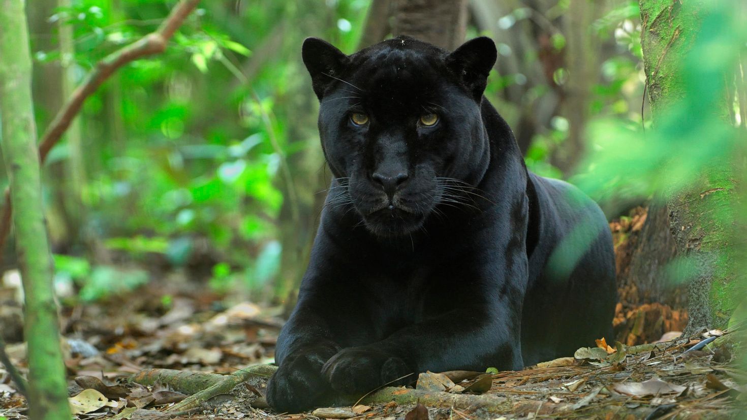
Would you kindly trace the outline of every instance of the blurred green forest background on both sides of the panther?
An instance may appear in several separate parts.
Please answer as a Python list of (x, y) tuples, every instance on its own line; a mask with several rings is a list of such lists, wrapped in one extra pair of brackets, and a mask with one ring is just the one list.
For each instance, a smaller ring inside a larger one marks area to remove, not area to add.
[[(174, 4), (34, 1), (40, 131), (97, 60), (153, 31)], [(370, 7), (366, 0), (203, 1), (165, 54), (117, 72), (86, 101), (44, 168), (55, 281), (96, 300), (178, 273), (230, 299), (292, 301), (330, 178), (300, 46), (314, 36), (356, 51)], [(704, 154), (731, 159), (725, 145), (745, 124), (738, 95), (727, 119), (691, 107), (678, 111), (688, 118), (652, 131), (638, 1), (474, 0), (468, 7), (467, 38), (484, 34), (498, 45), (486, 96), (514, 129), (527, 166), (581, 184), (610, 219), (692, 181), (685, 175), (697, 176), (693, 165)], [(736, 18), (715, 16), (713, 36), (729, 38), (709, 42), (743, 49)], [(722, 56), (708, 62), (722, 70), (740, 60)], [(701, 83), (712, 74), (690, 76), (683, 107), (723, 98), (723, 84)], [(728, 90), (737, 92), (732, 83)], [(711, 122), (724, 128), (724, 142), (681, 135)], [(666, 166), (675, 152), (685, 163)], [(5, 266), (13, 265), (11, 251)]]

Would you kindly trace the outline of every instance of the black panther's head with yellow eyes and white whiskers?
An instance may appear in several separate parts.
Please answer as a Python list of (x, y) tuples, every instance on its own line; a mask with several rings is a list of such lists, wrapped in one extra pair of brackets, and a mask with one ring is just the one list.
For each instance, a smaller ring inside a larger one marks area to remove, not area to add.
[(489, 159), (480, 102), (495, 58), (486, 37), (451, 53), (397, 37), (352, 55), (308, 38), (303, 62), (337, 178), (328, 205), (352, 205), (380, 236), (418, 230), (439, 205), (472, 205)]

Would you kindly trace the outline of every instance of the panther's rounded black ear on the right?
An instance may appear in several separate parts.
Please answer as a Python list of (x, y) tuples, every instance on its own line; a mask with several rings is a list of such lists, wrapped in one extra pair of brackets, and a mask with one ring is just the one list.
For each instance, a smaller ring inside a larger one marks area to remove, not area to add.
[(446, 65), (461, 79), (475, 100), (480, 102), (488, 83), (488, 73), (497, 57), (498, 51), (493, 40), (479, 37), (456, 48), (456, 51), (446, 57)]

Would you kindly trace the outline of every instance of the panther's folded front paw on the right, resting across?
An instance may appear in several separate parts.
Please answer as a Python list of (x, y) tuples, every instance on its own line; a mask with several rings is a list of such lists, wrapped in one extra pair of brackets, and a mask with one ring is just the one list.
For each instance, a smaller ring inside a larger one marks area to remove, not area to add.
[[(415, 378), (405, 361), (373, 348), (346, 348), (324, 364), (322, 374), (332, 389), (360, 394), (383, 385), (403, 385)], [(407, 376), (410, 374), (409, 376)]]

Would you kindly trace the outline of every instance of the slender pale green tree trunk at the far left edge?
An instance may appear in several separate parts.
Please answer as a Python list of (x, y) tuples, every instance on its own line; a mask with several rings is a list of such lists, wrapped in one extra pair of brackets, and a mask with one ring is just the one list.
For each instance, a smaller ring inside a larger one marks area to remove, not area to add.
[(0, 114), (2, 149), (16, 207), (16, 250), (25, 291), (29, 417), (70, 419), (57, 307), (52, 289), (31, 100), (31, 54), (25, 1), (0, 2)]

